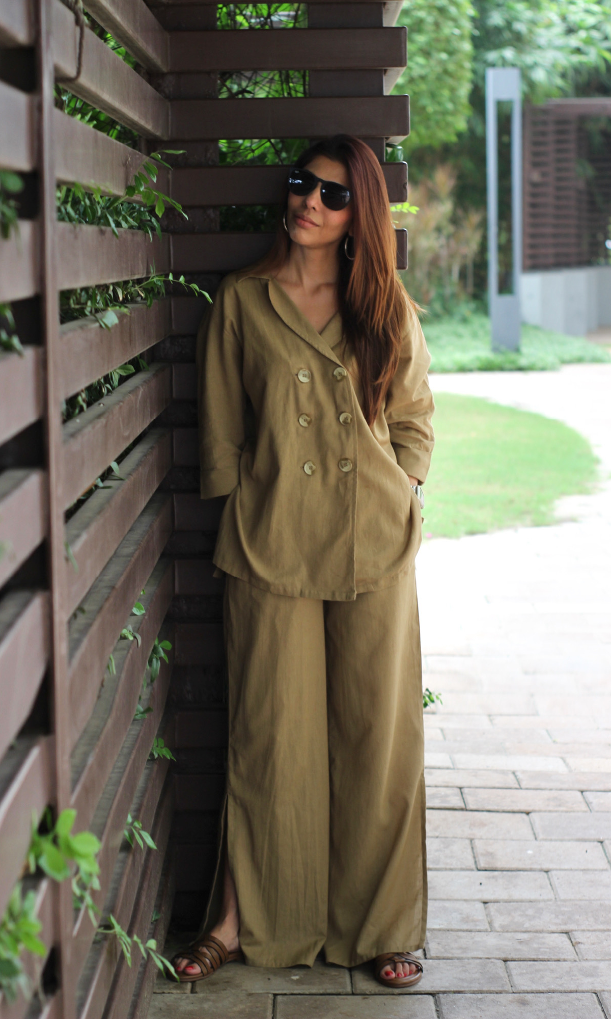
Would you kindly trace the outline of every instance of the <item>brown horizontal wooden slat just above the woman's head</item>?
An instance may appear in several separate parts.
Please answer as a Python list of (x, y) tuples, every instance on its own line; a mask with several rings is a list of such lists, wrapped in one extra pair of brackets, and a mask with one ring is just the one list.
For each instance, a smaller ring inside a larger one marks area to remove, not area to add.
[(403, 139), (409, 133), (409, 97), (175, 99), (170, 122), (172, 138), (184, 141), (320, 138), (339, 132)]

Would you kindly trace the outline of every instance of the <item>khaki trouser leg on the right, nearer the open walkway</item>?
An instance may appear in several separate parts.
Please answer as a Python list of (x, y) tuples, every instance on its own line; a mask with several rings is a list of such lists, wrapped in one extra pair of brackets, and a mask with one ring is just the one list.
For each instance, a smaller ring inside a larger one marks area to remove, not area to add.
[(326, 602), (331, 781), (329, 962), (424, 944), (424, 727), (414, 571)]

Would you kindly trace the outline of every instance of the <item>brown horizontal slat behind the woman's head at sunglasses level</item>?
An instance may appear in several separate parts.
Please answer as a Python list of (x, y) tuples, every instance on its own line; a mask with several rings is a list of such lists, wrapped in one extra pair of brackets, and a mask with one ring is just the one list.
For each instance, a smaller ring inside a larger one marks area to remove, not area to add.
[[(220, 33), (219, 33), (220, 35)], [(385, 163), (390, 202), (407, 200), (407, 163)], [(286, 182), (286, 166), (203, 166), (172, 170), (172, 198), (185, 207), (275, 205)]]

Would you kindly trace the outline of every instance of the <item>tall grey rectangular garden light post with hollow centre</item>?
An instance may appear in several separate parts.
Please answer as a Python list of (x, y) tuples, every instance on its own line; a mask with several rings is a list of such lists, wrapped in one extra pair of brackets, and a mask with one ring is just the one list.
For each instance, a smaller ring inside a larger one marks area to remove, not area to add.
[[(499, 102), (511, 103), (511, 282), (499, 279)], [(488, 294), (493, 350), (519, 347), (521, 271), (521, 98), (517, 67), (486, 71), (486, 169), (488, 183)], [(504, 291), (504, 292), (503, 292)]]

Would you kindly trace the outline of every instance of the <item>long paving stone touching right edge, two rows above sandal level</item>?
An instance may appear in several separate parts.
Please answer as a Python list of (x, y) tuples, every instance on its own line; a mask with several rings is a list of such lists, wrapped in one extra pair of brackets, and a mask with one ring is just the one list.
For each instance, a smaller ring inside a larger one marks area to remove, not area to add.
[(493, 930), (608, 930), (606, 902), (491, 902), (486, 913)]

